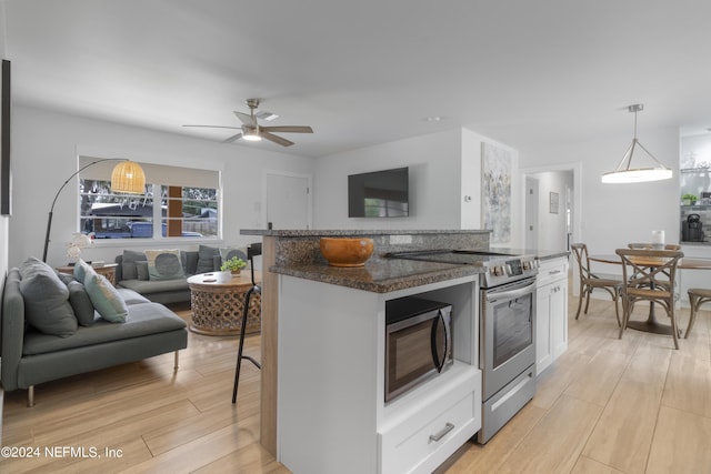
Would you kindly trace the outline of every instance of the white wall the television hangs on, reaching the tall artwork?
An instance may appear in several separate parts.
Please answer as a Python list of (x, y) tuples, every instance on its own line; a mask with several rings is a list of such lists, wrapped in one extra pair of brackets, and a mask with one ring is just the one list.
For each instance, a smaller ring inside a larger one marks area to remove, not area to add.
[[(413, 137), (318, 159), (314, 179), (316, 229), (481, 229), (481, 143), (518, 152), (465, 129)], [(410, 168), (410, 216), (348, 218), (348, 175)], [(514, 173), (512, 202), (519, 202)], [(465, 201), (464, 196), (471, 198)], [(521, 239), (521, 210), (512, 209), (512, 245)]]

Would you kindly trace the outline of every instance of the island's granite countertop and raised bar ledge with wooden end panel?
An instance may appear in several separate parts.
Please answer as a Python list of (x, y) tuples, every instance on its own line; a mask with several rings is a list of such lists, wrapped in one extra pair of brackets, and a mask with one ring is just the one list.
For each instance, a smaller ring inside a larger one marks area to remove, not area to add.
[[(262, 332), (261, 332), (261, 444), (277, 456), (277, 374), (279, 334), (279, 274), (311, 279), (334, 285), (351, 285), (363, 291), (390, 291), (471, 276), (480, 270), (459, 265), (400, 262), (384, 253), (418, 249), (488, 249), (490, 231), (304, 231), (242, 230), (242, 235), (262, 240)], [(367, 236), (375, 250), (363, 269), (343, 272), (327, 265), (319, 250), (321, 236)]]

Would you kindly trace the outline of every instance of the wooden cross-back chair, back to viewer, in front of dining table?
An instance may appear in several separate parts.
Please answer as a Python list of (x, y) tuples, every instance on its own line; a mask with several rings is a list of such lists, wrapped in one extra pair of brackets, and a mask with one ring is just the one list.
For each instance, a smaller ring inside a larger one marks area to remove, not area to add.
[[(664, 309), (671, 320), (671, 334), (674, 349), (679, 349), (679, 329), (674, 314), (674, 281), (677, 265), (684, 256), (677, 250), (618, 249), (615, 253), (622, 259), (622, 325), (619, 339), (628, 326), (634, 304), (648, 301)], [(664, 282), (660, 285), (659, 282)]]

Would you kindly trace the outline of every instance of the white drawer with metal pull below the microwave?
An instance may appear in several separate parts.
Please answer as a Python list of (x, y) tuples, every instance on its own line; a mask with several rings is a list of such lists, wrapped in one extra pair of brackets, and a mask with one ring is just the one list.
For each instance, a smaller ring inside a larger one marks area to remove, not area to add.
[[(383, 473), (407, 473), (414, 470), (430, 454), (440, 450), (462, 430), (470, 430), (474, 422), (474, 394), (469, 393), (459, 402), (434, 413), (414, 432), (392, 430), (381, 437), (381, 468)], [(478, 407), (479, 410), (481, 406)], [(477, 427), (478, 430), (478, 427)], [(475, 430), (474, 430), (475, 432)], [(470, 437), (469, 433), (465, 438)], [(454, 446), (452, 451), (457, 450)]]

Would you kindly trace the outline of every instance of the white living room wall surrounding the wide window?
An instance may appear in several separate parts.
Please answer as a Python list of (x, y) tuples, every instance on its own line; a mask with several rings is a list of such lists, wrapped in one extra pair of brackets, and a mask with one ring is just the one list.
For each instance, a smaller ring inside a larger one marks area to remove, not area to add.
[[(13, 215), (9, 241), (10, 266), (26, 258), (42, 256), (44, 230), (51, 201), (59, 186), (77, 171), (78, 152), (99, 158), (220, 170), (223, 183), (223, 242), (246, 244), (240, 229), (262, 229), (263, 170), (279, 169), (312, 174), (313, 160), (282, 152), (230, 145), (161, 133), (116, 123), (89, 120), (27, 107), (13, 110)], [(269, 147), (264, 147), (268, 149)], [(76, 179), (62, 191), (54, 208), (48, 263), (67, 263), (64, 242), (78, 228)], [(86, 260), (113, 261), (131, 242), (98, 241), (86, 249)], [(147, 248), (146, 242), (140, 242)], [(197, 242), (188, 245), (197, 249)], [(153, 248), (187, 248), (164, 242)]]

